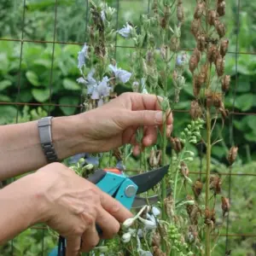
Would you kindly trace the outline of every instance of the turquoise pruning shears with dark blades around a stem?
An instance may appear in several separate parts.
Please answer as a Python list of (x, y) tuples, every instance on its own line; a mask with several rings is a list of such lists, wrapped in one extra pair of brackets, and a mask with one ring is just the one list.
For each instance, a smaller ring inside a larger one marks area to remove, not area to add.
[[(159, 201), (159, 195), (143, 198), (138, 196), (138, 194), (153, 189), (165, 177), (168, 169), (169, 166), (163, 166), (131, 177), (125, 176), (125, 173), (117, 168), (98, 169), (87, 180), (96, 184), (103, 192), (112, 195), (113, 198), (130, 210), (131, 208), (143, 207), (144, 205), (151, 205)], [(171, 190), (167, 190), (167, 194), (170, 193)], [(96, 228), (100, 234), (101, 230), (98, 226)], [(55, 247), (49, 253), (49, 256), (65, 256), (65, 249), (65, 238), (60, 236), (58, 247)]]

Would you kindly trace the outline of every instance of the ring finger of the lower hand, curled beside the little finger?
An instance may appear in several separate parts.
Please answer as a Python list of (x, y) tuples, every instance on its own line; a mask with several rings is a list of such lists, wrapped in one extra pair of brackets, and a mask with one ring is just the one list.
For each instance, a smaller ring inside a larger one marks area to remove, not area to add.
[(84, 231), (84, 234), (82, 236), (82, 246), (80, 251), (82, 251), (83, 253), (90, 252), (91, 249), (96, 247), (99, 241), (100, 241), (100, 237), (96, 230), (96, 226), (95, 224), (92, 224), (87, 230)]

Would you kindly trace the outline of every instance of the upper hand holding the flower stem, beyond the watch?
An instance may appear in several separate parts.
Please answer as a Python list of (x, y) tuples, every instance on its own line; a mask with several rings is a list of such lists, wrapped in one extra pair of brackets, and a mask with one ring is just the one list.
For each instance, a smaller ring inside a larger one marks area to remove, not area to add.
[[(86, 123), (84, 150), (87, 153), (104, 152), (131, 143), (134, 154), (139, 154), (136, 132), (143, 126), (143, 147), (156, 142), (157, 128), (162, 129), (162, 98), (140, 93), (124, 93), (100, 108), (81, 114)], [(166, 113), (166, 136), (172, 132), (172, 113)], [(84, 152), (85, 152), (84, 151)]]

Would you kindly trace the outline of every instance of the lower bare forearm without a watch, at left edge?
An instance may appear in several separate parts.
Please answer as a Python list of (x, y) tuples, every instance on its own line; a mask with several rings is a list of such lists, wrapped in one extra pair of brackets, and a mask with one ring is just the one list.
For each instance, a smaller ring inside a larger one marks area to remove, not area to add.
[(32, 175), (0, 189), (0, 245), (44, 219), (43, 190)]

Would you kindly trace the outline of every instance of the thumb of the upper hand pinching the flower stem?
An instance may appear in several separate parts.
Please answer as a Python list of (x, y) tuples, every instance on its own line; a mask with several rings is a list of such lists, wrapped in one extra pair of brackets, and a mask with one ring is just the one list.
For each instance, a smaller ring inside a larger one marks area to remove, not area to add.
[(131, 111), (124, 116), (125, 126), (153, 126), (162, 125), (165, 117), (162, 111), (155, 110), (139, 110)]

